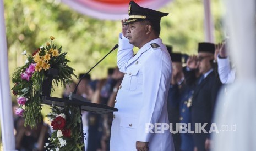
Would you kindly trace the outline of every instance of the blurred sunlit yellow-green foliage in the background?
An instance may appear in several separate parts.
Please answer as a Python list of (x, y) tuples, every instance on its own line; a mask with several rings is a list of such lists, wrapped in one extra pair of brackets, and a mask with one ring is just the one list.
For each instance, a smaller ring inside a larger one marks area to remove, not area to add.
[[(85, 73), (118, 43), (121, 32), (121, 21), (99, 20), (79, 14), (59, 0), (4, 1), (4, 9), (10, 77), (15, 68), (24, 65), (26, 58), (21, 55), (22, 51), (32, 54), (49, 42), (50, 36), (56, 38), (55, 45), (62, 45), (63, 51), (68, 52), (69, 65), (75, 69), (75, 74)], [(160, 38), (163, 42), (173, 45), (173, 51), (189, 55), (197, 53), (198, 42), (205, 39), (203, 1), (173, 0), (159, 10), (170, 13), (161, 20)], [(211, 13), (215, 42), (221, 42), (225, 32), (220, 1), (211, 1)], [(114, 51), (90, 73), (92, 79), (106, 77), (107, 68), (116, 66), (116, 54)], [(61, 97), (62, 90), (56, 88), (53, 96)], [(15, 101), (15, 96), (12, 98)], [(48, 107), (43, 108), (44, 115), (48, 112)]]

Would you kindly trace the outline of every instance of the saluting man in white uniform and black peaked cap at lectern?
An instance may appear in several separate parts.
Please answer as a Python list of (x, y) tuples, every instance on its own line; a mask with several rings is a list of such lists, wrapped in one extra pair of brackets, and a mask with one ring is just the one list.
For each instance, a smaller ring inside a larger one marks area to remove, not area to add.
[[(128, 20), (122, 20), (119, 35), (117, 65), (124, 78), (115, 100), (119, 110), (113, 114), (110, 150), (174, 150), (170, 130), (161, 132), (161, 126), (155, 127), (156, 123), (169, 124), (167, 96), (172, 64), (159, 38), (161, 17), (168, 13), (131, 1), (128, 15)], [(139, 48), (135, 55), (134, 46)]]

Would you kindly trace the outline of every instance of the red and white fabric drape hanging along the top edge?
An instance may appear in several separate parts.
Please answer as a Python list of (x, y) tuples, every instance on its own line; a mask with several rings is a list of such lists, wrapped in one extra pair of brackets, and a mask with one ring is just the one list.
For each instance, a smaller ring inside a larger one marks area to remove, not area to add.
[[(172, 0), (134, 0), (141, 7), (157, 10)], [(128, 17), (130, 0), (62, 0), (79, 13), (97, 19), (121, 20)]]

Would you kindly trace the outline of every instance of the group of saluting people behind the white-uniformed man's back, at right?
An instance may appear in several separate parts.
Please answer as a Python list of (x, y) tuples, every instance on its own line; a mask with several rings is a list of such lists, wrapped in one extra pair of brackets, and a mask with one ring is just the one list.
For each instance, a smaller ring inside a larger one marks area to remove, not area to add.
[[(210, 150), (213, 147), (209, 132), (214, 123), (217, 97), (221, 90), (225, 90), (222, 87), (235, 80), (235, 68), (231, 65), (225, 43), (199, 43), (198, 54), (192, 56), (173, 53), (172, 47), (167, 45), (173, 67), (168, 118), (173, 125), (172, 131), (179, 129), (173, 133), (175, 150)], [(206, 132), (196, 133), (198, 127), (195, 126), (199, 123), (207, 124), (204, 127)], [(181, 124), (190, 124), (195, 133), (182, 133)]]

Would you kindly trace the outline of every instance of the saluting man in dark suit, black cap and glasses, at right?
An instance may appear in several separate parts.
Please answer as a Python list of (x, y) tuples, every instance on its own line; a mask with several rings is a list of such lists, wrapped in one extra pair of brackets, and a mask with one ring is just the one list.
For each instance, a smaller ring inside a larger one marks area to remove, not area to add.
[[(221, 86), (219, 77), (213, 72), (215, 45), (213, 43), (199, 43), (198, 56), (191, 56), (187, 60), (185, 72), (186, 83), (194, 89), (192, 98), (192, 130), (197, 128), (195, 124), (206, 123), (205, 131), (209, 132), (216, 97)], [(197, 78), (197, 71), (200, 77)], [(210, 135), (205, 132), (194, 133), (194, 150), (209, 150)]]

